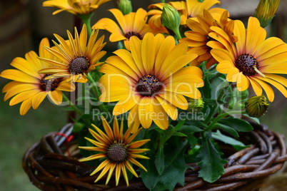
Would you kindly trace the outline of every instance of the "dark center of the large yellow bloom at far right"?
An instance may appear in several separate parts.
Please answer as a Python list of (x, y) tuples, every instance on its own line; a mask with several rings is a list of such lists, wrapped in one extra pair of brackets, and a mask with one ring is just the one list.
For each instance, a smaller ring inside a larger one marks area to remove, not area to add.
[(235, 66), (243, 73), (243, 75), (254, 76), (257, 73), (255, 68), (258, 69), (259, 65), (254, 56), (248, 53), (243, 53), (236, 59)]

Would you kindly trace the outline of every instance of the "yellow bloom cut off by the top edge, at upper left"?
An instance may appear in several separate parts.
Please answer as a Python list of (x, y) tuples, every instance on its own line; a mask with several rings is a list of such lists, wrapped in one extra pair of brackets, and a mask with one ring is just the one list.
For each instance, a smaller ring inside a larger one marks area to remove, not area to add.
[(111, 0), (49, 0), (44, 1), (43, 6), (59, 8), (59, 10), (54, 11), (54, 15), (61, 11), (68, 11), (71, 14), (89, 14), (107, 1)]

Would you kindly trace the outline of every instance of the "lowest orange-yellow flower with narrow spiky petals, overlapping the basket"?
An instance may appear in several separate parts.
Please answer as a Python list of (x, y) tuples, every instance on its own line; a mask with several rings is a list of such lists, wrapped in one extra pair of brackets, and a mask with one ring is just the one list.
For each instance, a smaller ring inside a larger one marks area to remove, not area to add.
[(91, 175), (96, 174), (96, 172), (101, 171), (101, 174), (96, 178), (95, 182), (99, 181), (101, 177), (106, 175), (109, 171), (109, 175), (106, 178), (106, 184), (108, 184), (109, 180), (111, 179), (111, 175), (116, 169), (116, 185), (119, 184), (119, 177), (121, 172), (124, 175), (124, 179), (126, 180), (126, 185), (129, 185), (128, 175), (126, 174), (126, 168), (135, 176), (139, 177), (136, 174), (136, 171), (131, 166), (131, 163), (134, 165), (141, 167), (141, 169), (146, 170), (146, 168), (141, 165), (135, 158), (140, 159), (149, 159), (144, 155), (139, 155), (140, 153), (145, 153), (149, 149), (146, 148), (139, 148), (150, 139), (145, 140), (138, 140), (134, 143), (132, 141), (136, 138), (136, 135), (139, 134), (141, 128), (137, 130), (133, 135), (131, 135), (131, 129), (129, 128), (126, 133), (124, 131), (124, 123), (121, 123), (121, 128), (119, 128), (118, 121), (114, 118), (114, 128), (111, 130), (109, 123), (106, 122), (106, 119), (101, 116), (101, 120), (104, 125), (104, 133), (100, 130), (96, 125), (93, 127), (96, 129), (94, 130), (89, 129), (89, 132), (96, 140), (92, 140), (90, 138), (86, 138), (89, 142), (93, 143), (95, 146), (92, 147), (79, 147), (84, 150), (91, 150), (91, 151), (99, 151), (98, 154), (91, 155), (88, 158), (81, 159), (81, 162), (89, 161), (89, 160), (97, 160), (101, 158), (106, 158), (101, 164), (96, 167), (94, 172), (91, 172)]

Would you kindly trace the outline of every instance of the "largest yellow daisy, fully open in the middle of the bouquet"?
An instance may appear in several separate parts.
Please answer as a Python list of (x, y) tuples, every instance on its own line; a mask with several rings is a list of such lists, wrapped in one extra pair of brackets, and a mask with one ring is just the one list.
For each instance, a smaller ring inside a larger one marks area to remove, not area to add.
[(202, 71), (186, 66), (197, 55), (186, 53), (187, 43), (176, 45), (173, 36), (146, 33), (141, 41), (130, 38), (131, 51), (120, 49), (110, 56), (100, 71), (100, 100), (116, 103), (113, 114), (129, 112), (129, 127), (134, 133), (139, 124), (149, 128), (152, 121), (168, 128), (168, 115), (176, 120), (177, 108), (186, 110), (186, 97), (201, 98)]

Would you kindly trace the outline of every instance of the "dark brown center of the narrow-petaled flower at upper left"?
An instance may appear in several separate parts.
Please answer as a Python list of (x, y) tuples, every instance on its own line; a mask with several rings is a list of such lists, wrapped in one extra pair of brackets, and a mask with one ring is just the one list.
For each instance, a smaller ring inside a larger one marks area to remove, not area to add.
[(89, 60), (85, 57), (75, 58), (69, 65), (69, 72), (73, 74), (86, 73), (89, 68)]

